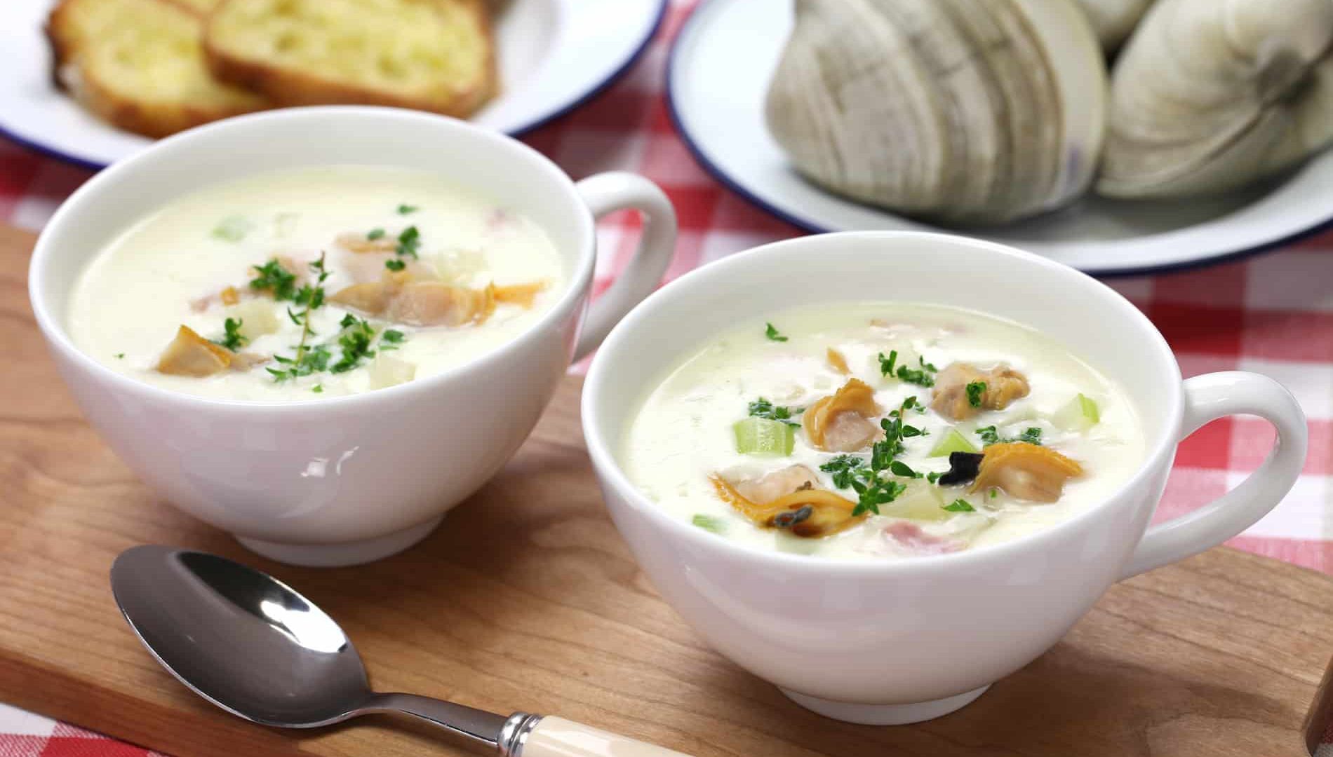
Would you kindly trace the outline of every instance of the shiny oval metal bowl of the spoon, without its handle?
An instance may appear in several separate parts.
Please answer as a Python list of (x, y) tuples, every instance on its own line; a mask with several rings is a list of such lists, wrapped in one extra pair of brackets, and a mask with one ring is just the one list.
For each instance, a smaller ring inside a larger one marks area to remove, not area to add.
[(343, 629), (264, 573), (203, 552), (140, 546), (116, 558), (111, 589), (153, 657), (235, 716), (313, 728), (345, 720), (371, 697)]

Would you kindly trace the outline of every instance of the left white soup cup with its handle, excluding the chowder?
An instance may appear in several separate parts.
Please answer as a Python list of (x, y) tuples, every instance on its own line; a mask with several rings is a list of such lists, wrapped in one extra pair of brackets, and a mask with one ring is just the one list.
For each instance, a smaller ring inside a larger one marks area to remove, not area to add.
[[(81, 353), (65, 328), (79, 273), (129, 224), (201, 187), (329, 165), (439, 173), (540, 225), (565, 288), (540, 321), (447, 371), (364, 394), (259, 404), (185, 396)], [(620, 279), (589, 308), (595, 220), (632, 208), (645, 228)], [(532, 148), (441, 116), (300, 108), (173, 136), (84, 184), (32, 255), (37, 325), (84, 414), (168, 502), (275, 560), (348, 565), (399, 552), (487, 481), (532, 430), (571, 360), (661, 280), (676, 215), (647, 179), (572, 181)]]

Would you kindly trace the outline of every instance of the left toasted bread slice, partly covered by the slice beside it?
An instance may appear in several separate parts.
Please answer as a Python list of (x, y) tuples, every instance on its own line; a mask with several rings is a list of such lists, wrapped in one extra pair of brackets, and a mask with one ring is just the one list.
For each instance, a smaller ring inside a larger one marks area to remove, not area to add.
[(167, 0), (63, 0), (47, 20), (56, 81), (101, 119), (149, 137), (267, 107), (208, 73), (203, 23)]

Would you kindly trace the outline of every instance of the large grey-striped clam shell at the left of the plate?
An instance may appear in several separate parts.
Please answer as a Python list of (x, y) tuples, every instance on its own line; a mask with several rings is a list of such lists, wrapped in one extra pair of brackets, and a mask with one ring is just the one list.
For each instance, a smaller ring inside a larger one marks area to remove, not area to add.
[(1074, 0), (797, 0), (765, 116), (836, 193), (1000, 223), (1086, 189), (1105, 81)]

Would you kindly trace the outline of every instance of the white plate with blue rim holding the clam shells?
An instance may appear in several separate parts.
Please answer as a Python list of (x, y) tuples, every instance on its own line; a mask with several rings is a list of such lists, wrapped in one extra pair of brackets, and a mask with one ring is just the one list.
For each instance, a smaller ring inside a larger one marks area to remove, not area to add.
[(802, 229), (962, 233), (1088, 273), (1124, 276), (1232, 260), (1333, 224), (1333, 151), (1224, 197), (1116, 201), (1089, 196), (1002, 228), (944, 228), (838, 197), (801, 179), (764, 124), (764, 97), (790, 29), (790, 3), (702, 0), (672, 47), (666, 97), (676, 129), (709, 173)]

